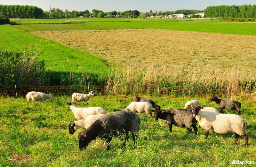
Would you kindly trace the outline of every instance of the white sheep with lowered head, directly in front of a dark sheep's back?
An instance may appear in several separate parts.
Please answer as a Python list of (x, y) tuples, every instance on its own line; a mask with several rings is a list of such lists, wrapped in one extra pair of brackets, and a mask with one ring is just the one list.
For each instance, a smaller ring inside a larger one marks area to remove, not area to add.
[(138, 112), (138, 113), (148, 113), (149, 116), (152, 116), (151, 113), (152, 104), (149, 102), (131, 102), (126, 109), (123, 109), (123, 111), (132, 111), (132, 112)]

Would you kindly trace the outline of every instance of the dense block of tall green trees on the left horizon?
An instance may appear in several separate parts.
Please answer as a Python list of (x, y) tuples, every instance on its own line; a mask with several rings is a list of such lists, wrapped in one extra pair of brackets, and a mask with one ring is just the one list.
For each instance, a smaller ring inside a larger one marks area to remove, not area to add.
[(0, 12), (8, 18), (43, 18), (41, 8), (28, 5), (0, 5)]

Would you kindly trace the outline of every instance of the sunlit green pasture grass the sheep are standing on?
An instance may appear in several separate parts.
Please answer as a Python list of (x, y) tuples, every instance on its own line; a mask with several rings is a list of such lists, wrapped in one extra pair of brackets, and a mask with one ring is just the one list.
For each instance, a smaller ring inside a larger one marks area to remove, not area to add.
[[(161, 108), (182, 108), (190, 98), (154, 98)], [(89, 106), (101, 106), (109, 112), (121, 110), (130, 103), (130, 98), (119, 96), (95, 96)], [(209, 99), (198, 99), (202, 105), (217, 108)], [(0, 166), (232, 166), (233, 160), (256, 160), (255, 101), (242, 100), (241, 117), (247, 123), (249, 146), (239, 137), (234, 143), (234, 133), (209, 133), (204, 138), (202, 128), (198, 135), (187, 134), (186, 128), (173, 126), (172, 133), (163, 120), (155, 121), (147, 114), (138, 114), (141, 120), (138, 145), (132, 149), (120, 149), (122, 141), (114, 137), (111, 149), (106, 151), (104, 140), (92, 141), (84, 151), (78, 149), (78, 130), (68, 133), (68, 124), (75, 118), (66, 102), (71, 98), (55, 97), (27, 105), (24, 98), (0, 99)], [(82, 107), (82, 103), (77, 104)], [(86, 106), (86, 105), (85, 105)], [(87, 106), (86, 106), (87, 107)], [(229, 111), (228, 114), (235, 114)], [(28, 160), (21, 162), (28, 157)], [(12, 161), (10, 161), (10, 159)], [(16, 162), (14, 160), (17, 160)], [(248, 165), (249, 166), (249, 165)]]

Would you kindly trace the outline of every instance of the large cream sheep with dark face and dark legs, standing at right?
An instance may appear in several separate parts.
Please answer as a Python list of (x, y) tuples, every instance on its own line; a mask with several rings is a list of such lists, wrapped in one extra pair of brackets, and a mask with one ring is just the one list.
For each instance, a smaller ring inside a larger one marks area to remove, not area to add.
[(245, 145), (249, 145), (244, 118), (236, 114), (217, 114), (214, 112), (202, 111), (200, 109), (204, 109), (204, 107), (198, 105), (190, 107), (192, 108), (193, 117), (195, 117), (199, 125), (204, 128), (205, 137), (207, 137), (210, 129), (216, 133), (235, 132), (235, 142), (237, 142), (240, 135), (244, 137)]

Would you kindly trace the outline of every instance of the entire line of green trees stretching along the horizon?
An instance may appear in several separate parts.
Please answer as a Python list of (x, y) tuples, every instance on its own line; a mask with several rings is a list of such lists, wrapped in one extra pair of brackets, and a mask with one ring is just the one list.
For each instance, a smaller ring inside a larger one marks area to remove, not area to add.
[[(93, 15), (94, 17), (107, 17), (110, 15), (122, 15), (127, 17), (129, 15), (133, 16), (142, 16), (140, 11), (109, 11), (103, 12), (100, 10), (93, 9), (92, 13), (88, 10), (85, 11), (62, 11), (58, 8), (52, 8), (51, 11), (43, 11), (41, 8), (36, 6), (28, 6), (28, 5), (0, 5), (0, 12), (8, 18), (76, 18), (79, 16), (89, 17)], [(146, 12), (143, 14), (143, 17), (146, 17), (151, 14), (151, 16), (162, 16), (162, 15), (170, 15), (174, 13), (183, 13), (184, 15), (188, 14), (195, 14), (202, 11), (199, 10), (177, 10), (177, 11), (159, 11), (153, 12)], [(208, 18), (214, 17), (229, 17), (229, 18), (255, 18), (256, 17), (256, 5), (241, 5), (241, 6), (209, 6), (204, 11), (204, 16)]]

